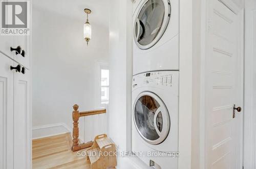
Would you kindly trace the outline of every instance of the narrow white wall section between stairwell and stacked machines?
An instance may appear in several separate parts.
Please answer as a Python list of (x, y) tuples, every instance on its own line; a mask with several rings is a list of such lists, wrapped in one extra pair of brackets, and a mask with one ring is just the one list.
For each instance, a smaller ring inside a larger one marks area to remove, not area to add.
[(131, 149), (132, 2), (110, 1), (109, 135), (120, 150)]

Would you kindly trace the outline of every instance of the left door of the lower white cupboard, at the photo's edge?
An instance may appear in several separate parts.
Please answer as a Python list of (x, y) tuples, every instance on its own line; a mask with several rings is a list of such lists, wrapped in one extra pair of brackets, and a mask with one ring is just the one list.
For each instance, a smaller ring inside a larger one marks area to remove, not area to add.
[(13, 61), (0, 53), (0, 168), (13, 168)]

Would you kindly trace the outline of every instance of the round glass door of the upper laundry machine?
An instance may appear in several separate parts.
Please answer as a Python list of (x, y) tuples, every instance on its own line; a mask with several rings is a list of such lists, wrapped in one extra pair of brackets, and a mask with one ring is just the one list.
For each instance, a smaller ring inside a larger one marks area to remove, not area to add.
[(170, 20), (169, 0), (148, 0), (142, 5), (134, 24), (134, 40), (142, 49), (154, 46), (162, 37)]

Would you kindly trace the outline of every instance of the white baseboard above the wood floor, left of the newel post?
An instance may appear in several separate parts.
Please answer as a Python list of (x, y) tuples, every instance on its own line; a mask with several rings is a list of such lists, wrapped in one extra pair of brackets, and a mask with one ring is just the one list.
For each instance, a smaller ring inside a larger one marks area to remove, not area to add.
[(32, 128), (32, 139), (44, 138), (64, 133), (71, 133), (72, 130), (65, 123), (55, 123)]

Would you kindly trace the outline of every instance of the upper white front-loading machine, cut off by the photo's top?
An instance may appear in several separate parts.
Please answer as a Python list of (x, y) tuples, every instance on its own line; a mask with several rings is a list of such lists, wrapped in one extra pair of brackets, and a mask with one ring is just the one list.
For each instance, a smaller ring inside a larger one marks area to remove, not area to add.
[(179, 70), (179, 0), (136, 0), (133, 75)]

